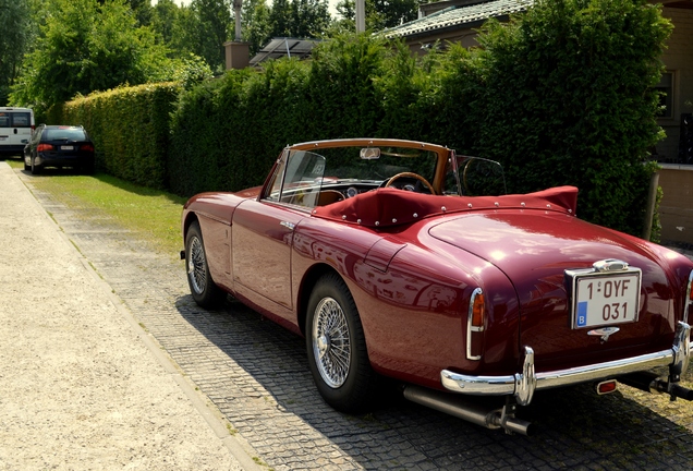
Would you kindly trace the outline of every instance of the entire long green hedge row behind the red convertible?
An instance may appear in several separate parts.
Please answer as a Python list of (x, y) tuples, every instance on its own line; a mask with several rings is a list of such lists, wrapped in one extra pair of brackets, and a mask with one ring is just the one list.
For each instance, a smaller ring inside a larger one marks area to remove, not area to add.
[(415, 59), (400, 44), (342, 36), (307, 62), (65, 110), (98, 138), (109, 172), (184, 196), (260, 184), (287, 144), (400, 137), (499, 160), (510, 192), (573, 184), (582, 218), (639, 234), (670, 29), (645, 0), (539, 0), (509, 24), (488, 22), (471, 51)]

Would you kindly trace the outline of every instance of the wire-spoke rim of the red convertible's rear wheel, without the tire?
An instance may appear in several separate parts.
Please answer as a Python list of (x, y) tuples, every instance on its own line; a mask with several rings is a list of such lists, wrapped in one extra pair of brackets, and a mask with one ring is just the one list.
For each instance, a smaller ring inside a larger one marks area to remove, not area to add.
[(351, 362), (346, 316), (332, 298), (323, 299), (313, 317), (313, 354), (323, 381), (331, 388), (344, 384)]

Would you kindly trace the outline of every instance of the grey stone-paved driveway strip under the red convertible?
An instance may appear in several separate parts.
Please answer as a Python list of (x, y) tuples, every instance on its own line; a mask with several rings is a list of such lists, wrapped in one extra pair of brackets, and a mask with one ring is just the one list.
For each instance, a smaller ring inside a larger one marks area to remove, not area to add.
[(336, 412), (313, 386), (302, 339), (234, 301), (199, 309), (182, 262), (77, 201), (65, 207), (36, 191), (32, 182), (41, 177), (15, 174), (263, 468), (691, 469), (691, 404), (625, 387), (605, 397), (586, 386), (537, 394), (519, 414), (537, 425), (534, 437), (487, 431), (397, 396), (367, 415)]

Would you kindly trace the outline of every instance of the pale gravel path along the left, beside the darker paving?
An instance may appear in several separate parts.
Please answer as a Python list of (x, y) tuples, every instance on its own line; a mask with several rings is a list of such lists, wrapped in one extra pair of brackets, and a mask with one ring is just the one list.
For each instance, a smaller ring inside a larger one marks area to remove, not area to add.
[(0, 470), (243, 469), (214, 409), (5, 162), (0, 234)]

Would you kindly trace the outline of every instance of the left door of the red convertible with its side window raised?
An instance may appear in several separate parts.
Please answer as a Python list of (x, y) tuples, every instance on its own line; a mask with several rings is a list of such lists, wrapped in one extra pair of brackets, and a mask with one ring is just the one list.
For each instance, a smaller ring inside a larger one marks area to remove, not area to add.
[(233, 213), (234, 291), (293, 322), (291, 254), (294, 230), (317, 202), (325, 158), (284, 153), (266, 192)]

